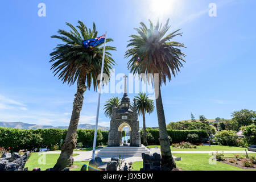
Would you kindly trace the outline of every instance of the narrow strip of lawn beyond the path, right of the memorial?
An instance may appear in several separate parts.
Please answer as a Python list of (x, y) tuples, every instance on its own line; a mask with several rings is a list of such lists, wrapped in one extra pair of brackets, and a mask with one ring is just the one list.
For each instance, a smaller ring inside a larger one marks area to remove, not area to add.
[[(160, 146), (147, 146), (148, 148), (155, 148)], [(211, 145), (211, 146), (196, 146), (196, 148), (175, 148), (171, 147), (172, 151), (222, 151), (222, 150), (245, 150), (243, 147), (233, 147), (233, 146), (217, 146), (217, 145)]]

